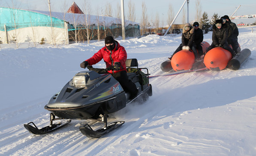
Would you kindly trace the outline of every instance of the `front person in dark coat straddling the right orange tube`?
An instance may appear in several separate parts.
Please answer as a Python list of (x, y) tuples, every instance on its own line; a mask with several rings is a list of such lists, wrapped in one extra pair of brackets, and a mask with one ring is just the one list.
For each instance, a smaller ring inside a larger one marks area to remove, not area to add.
[(212, 48), (221, 47), (231, 52), (232, 57), (235, 56), (235, 51), (229, 47), (227, 39), (228, 32), (226, 25), (223, 24), (221, 19), (217, 19), (215, 24), (212, 26), (212, 44), (208, 47), (207, 52)]

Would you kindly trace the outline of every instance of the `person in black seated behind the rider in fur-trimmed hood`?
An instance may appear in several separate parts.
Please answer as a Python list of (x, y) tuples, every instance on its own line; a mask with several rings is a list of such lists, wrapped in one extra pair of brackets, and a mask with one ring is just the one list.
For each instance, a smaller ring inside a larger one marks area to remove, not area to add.
[(194, 31), (194, 33), (195, 33), (195, 39), (194, 39), (195, 48), (198, 50), (198, 55), (201, 56), (203, 54), (203, 49), (202, 49), (202, 45), (201, 45), (201, 42), (203, 42), (203, 39), (204, 39), (203, 30), (199, 28), (198, 22), (194, 22), (193, 27), (195, 29), (195, 31)]

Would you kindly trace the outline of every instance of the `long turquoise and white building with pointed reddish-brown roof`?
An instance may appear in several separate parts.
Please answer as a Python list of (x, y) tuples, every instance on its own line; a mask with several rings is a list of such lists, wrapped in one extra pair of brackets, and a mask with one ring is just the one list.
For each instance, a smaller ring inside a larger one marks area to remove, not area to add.
[[(7, 42), (69, 44), (105, 36), (122, 36), (121, 19), (86, 15), (73, 3), (68, 12), (0, 7), (0, 38)], [(126, 36), (139, 36), (139, 24), (125, 20)], [(88, 33), (87, 33), (87, 30)], [(89, 34), (89, 36), (88, 36)]]

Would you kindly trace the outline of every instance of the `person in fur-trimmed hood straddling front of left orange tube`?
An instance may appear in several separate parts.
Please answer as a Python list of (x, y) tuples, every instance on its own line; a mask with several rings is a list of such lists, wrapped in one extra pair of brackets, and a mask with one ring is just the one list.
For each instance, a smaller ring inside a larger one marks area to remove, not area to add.
[[(176, 51), (172, 54), (176, 54), (178, 51), (181, 50), (190, 50), (195, 54), (195, 58), (197, 59), (199, 56), (197, 54), (195, 45), (194, 45), (194, 40), (195, 40), (195, 33), (194, 33), (194, 27), (192, 27), (189, 23), (186, 23), (183, 30), (182, 30), (182, 37), (181, 37), (181, 45), (176, 49)], [(169, 60), (172, 59), (172, 56), (169, 57)]]

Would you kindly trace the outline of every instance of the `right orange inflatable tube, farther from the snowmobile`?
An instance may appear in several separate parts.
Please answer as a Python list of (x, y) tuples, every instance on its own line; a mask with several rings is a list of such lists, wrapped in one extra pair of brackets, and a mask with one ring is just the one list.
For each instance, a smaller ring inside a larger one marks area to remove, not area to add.
[(205, 54), (205, 66), (214, 71), (225, 69), (229, 60), (232, 59), (232, 54), (223, 48), (216, 47)]

